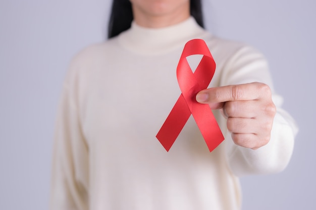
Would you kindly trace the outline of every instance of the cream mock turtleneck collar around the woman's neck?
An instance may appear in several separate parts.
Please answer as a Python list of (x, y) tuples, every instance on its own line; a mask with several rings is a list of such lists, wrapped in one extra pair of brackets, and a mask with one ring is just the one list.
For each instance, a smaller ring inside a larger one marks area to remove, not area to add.
[(209, 36), (193, 17), (165, 28), (144, 28), (132, 23), (130, 29), (118, 36), (119, 43), (126, 49), (146, 55), (169, 52), (195, 38)]

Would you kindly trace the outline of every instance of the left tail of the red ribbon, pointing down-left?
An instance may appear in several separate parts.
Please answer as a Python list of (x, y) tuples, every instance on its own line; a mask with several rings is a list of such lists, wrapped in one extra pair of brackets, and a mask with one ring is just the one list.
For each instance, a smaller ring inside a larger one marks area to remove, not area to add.
[(190, 115), (190, 109), (187, 106), (183, 95), (181, 94), (163, 126), (156, 135), (156, 138), (164, 146), (167, 152), (176, 141)]

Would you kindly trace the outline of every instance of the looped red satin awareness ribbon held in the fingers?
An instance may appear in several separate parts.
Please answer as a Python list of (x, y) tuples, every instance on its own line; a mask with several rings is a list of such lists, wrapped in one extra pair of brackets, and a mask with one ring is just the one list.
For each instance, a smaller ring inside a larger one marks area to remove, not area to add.
[[(203, 55), (203, 57), (193, 73), (186, 57), (195, 54)], [(167, 151), (176, 141), (191, 114), (204, 137), (209, 152), (224, 141), (224, 136), (209, 105), (200, 104), (195, 100), (196, 94), (208, 87), (215, 73), (215, 67), (213, 56), (203, 40), (193, 39), (185, 44), (177, 67), (177, 79), (182, 94), (156, 135)]]

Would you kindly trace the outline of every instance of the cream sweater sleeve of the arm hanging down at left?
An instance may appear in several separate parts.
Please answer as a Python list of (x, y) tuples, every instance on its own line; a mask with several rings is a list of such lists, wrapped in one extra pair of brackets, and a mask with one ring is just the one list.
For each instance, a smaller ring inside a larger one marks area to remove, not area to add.
[[(72, 70), (72, 69), (71, 69)], [(51, 175), (50, 209), (88, 209), (88, 146), (76, 103), (76, 77), (66, 77), (59, 104)]]

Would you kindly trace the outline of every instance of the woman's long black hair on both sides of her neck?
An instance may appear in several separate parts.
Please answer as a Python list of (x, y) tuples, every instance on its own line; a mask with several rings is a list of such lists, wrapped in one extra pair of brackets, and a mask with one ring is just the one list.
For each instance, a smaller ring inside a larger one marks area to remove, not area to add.
[[(201, 0), (190, 0), (190, 14), (204, 28)], [(113, 0), (108, 28), (108, 38), (129, 29), (133, 21), (132, 4), (129, 0)]]

